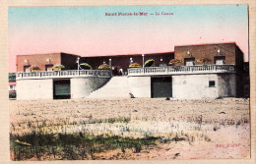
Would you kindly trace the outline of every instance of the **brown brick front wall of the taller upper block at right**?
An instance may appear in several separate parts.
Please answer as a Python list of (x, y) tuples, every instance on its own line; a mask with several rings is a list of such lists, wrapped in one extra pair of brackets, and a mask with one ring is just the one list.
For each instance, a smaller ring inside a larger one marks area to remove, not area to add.
[[(218, 49), (221, 49), (222, 54), (225, 56), (225, 64), (236, 64), (236, 44), (233, 43), (220, 43), (220, 44), (201, 44), (201, 45), (182, 45), (175, 46), (174, 53), (176, 59), (181, 59), (182, 63), (176, 64), (183, 66), (184, 58), (189, 57), (187, 51), (191, 52), (191, 55), (195, 57), (195, 65), (202, 65), (203, 63), (197, 62), (201, 57), (211, 59), (211, 61), (205, 64), (214, 64), (214, 56), (218, 56)], [(239, 54), (241, 56), (241, 54)], [(239, 58), (240, 59), (240, 58)]]

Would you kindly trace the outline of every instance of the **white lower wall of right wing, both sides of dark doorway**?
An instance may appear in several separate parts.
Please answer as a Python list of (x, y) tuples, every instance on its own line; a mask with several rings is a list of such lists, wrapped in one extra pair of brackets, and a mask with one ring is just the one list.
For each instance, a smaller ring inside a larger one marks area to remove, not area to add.
[[(216, 81), (216, 87), (209, 87)], [(135, 97), (151, 97), (151, 77), (129, 77), (131, 92)], [(178, 99), (218, 97), (218, 76), (182, 75), (172, 76), (172, 97)]]

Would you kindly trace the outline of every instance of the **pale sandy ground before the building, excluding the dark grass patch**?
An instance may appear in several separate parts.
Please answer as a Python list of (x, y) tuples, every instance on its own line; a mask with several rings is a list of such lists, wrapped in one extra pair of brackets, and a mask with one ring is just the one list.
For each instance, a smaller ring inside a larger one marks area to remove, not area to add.
[[(10, 132), (40, 127), (47, 132), (79, 131), (122, 137), (186, 137), (159, 143), (139, 153), (126, 149), (95, 154), (96, 159), (213, 159), (250, 157), (249, 99), (205, 100), (76, 99), (10, 100)], [(126, 118), (129, 123), (108, 123)], [(100, 123), (88, 122), (101, 120)], [(29, 124), (30, 123), (30, 124)], [(87, 125), (87, 126), (85, 126)], [(120, 130), (129, 128), (129, 133)]]

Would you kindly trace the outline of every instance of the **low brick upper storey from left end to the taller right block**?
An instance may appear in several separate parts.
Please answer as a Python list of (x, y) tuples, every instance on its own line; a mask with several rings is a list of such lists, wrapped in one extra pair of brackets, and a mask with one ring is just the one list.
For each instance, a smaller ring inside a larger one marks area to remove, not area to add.
[(77, 70), (77, 60), (79, 57), (80, 63), (88, 63), (93, 70), (97, 70), (98, 66), (103, 63), (123, 69), (127, 72), (131, 62), (140, 63), (142, 65), (143, 59), (155, 59), (156, 66), (167, 64), (169, 60), (174, 58), (173, 52), (163, 52), (155, 54), (127, 54), (127, 55), (110, 55), (110, 56), (87, 56), (81, 57), (79, 55), (67, 53), (48, 53), (48, 54), (32, 54), (32, 55), (17, 55), (17, 72), (31, 72), (32, 66), (37, 66), (40, 71), (52, 71), (54, 65), (63, 65), (65, 70)]

